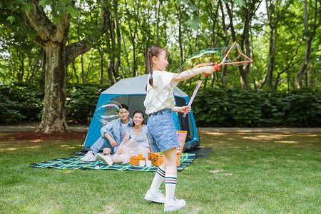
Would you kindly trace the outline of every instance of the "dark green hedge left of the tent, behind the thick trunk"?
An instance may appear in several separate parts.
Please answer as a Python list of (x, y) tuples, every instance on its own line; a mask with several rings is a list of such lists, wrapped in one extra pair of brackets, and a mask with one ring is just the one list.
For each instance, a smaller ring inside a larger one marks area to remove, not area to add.
[[(86, 123), (91, 108), (98, 101), (97, 84), (67, 85), (67, 119), (72, 123)], [(36, 84), (12, 83), (0, 86), (0, 124), (29, 123), (41, 120), (44, 91)], [(94, 109), (94, 108), (93, 108)]]

